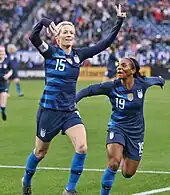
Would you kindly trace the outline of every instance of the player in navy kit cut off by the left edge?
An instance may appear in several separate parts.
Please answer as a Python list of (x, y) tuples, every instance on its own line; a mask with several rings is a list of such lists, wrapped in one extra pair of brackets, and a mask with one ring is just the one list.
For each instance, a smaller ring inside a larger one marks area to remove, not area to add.
[(7, 120), (6, 105), (8, 98), (7, 81), (12, 75), (12, 69), (9, 60), (6, 58), (5, 47), (0, 46), (0, 111), (2, 120)]

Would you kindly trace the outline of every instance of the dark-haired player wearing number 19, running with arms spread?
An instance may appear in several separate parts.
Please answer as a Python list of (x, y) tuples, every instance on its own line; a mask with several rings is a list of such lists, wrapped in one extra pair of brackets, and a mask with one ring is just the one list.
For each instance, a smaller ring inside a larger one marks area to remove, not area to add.
[(82, 98), (106, 95), (112, 105), (106, 142), (108, 167), (102, 177), (100, 195), (109, 195), (122, 160), (122, 174), (132, 177), (141, 160), (144, 145), (143, 104), (147, 88), (163, 87), (162, 77), (142, 77), (134, 58), (123, 58), (117, 67), (118, 79), (82, 89), (76, 96)]

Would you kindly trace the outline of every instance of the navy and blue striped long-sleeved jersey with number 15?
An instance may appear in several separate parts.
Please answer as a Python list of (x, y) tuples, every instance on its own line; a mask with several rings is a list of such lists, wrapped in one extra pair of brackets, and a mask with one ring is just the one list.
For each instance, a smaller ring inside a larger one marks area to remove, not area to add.
[(81, 63), (100, 53), (109, 47), (118, 34), (123, 23), (122, 18), (118, 18), (110, 35), (92, 47), (72, 49), (67, 55), (58, 46), (52, 46), (39, 37), (43, 26), (48, 27), (52, 21), (43, 18), (34, 27), (30, 40), (45, 59), (45, 88), (40, 100), (40, 105), (44, 108), (73, 111), (75, 110), (76, 82), (79, 76)]

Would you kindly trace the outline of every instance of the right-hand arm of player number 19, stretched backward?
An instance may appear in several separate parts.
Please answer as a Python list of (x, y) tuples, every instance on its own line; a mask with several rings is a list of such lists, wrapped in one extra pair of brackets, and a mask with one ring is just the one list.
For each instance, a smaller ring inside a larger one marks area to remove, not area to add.
[(165, 80), (159, 76), (159, 77), (145, 77), (144, 81), (147, 85), (147, 87), (151, 87), (152, 85), (158, 85), (160, 87), (163, 87), (165, 84)]

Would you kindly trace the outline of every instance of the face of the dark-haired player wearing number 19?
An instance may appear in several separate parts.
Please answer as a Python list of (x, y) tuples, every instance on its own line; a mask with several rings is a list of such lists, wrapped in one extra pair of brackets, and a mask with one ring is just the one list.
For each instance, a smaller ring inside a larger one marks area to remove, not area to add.
[(128, 77), (133, 76), (135, 70), (133, 65), (128, 59), (121, 59), (119, 61), (119, 65), (117, 67), (117, 77), (121, 79), (126, 79)]

